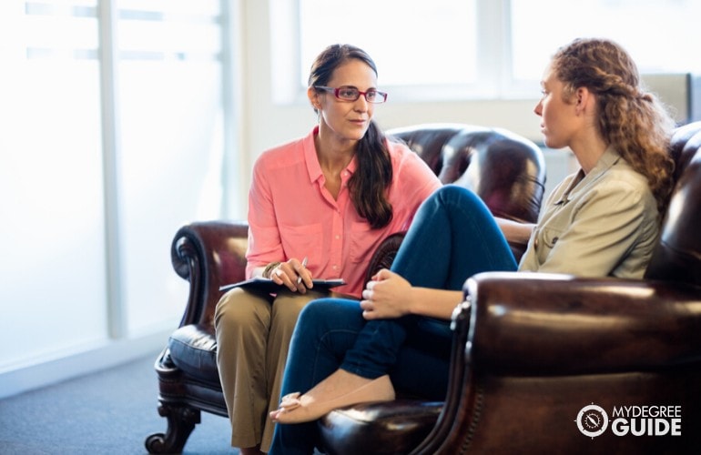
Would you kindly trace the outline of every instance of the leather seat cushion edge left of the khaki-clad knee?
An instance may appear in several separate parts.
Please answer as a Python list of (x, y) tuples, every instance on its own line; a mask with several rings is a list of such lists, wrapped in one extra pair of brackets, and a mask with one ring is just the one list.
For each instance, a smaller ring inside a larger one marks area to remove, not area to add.
[(189, 324), (175, 330), (168, 339), (173, 363), (188, 376), (219, 385), (217, 339), (213, 328)]

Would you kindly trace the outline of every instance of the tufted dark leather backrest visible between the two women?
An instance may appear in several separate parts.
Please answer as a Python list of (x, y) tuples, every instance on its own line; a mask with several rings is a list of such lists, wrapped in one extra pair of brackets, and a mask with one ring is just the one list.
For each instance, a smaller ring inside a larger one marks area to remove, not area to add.
[(443, 184), (475, 191), (494, 216), (534, 223), (544, 196), (542, 150), (499, 128), (423, 124), (391, 129), (428, 163)]

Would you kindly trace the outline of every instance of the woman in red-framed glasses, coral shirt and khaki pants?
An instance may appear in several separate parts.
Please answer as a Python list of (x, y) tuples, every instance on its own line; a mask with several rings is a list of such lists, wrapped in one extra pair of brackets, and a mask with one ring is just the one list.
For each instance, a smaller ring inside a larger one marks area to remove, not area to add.
[(231, 445), (244, 455), (269, 449), (269, 412), (279, 402), (292, 330), (301, 308), (325, 295), (312, 278), (342, 278), (335, 291), (361, 298), (375, 248), (408, 227), (441, 186), (420, 157), (372, 121), (387, 94), (361, 49), (325, 49), (311, 66), (307, 95), (318, 125), (264, 152), (249, 190), (247, 278), (270, 278), (279, 292), (234, 288), (215, 312)]

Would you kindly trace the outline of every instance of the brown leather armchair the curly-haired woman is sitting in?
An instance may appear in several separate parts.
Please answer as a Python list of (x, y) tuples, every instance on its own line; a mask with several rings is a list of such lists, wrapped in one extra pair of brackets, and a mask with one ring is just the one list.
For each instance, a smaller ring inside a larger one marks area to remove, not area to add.
[(324, 450), (698, 453), (701, 122), (676, 129), (671, 153), (676, 189), (644, 279), (469, 278), (445, 401), (334, 410), (319, 423)]

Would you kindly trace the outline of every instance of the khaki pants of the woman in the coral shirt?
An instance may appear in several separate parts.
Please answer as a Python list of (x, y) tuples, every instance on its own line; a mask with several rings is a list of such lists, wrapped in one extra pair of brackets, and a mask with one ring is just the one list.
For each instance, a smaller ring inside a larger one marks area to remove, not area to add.
[(231, 421), (231, 445), (268, 452), (290, 338), (304, 306), (324, 294), (284, 291), (276, 298), (234, 288), (214, 314), (219, 379)]

